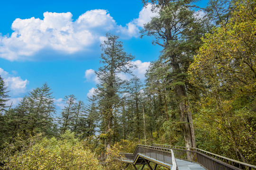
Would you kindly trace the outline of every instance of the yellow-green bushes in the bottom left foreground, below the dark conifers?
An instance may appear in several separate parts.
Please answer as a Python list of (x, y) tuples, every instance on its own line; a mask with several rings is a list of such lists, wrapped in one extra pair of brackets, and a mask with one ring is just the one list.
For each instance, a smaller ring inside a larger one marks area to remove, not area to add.
[(103, 170), (94, 153), (78, 142), (74, 133), (65, 132), (60, 139), (38, 140), (23, 152), (10, 156), (5, 170)]

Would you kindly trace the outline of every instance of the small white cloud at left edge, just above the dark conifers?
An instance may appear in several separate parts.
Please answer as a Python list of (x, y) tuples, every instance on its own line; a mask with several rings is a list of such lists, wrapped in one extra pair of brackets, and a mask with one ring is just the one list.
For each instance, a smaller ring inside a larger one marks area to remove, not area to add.
[(28, 84), (27, 79), (22, 80), (20, 76), (12, 76), (2, 68), (0, 68), (0, 75), (4, 79), (6, 86), (9, 88), (11, 95), (18, 95), (26, 92), (26, 86)]

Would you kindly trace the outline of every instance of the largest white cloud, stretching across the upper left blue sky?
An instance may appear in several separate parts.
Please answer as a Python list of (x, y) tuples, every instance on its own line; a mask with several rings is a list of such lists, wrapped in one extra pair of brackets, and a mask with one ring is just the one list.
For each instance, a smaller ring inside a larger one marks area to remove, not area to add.
[(78, 19), (72, 19), (70, 12), (45, 12), (44, 18), (17, 18), (12, 23), (14, 31), (10, 36), (0, 35), (0, 58), (8, 60), (35, 60), (46, 51), (65, 56), (83, 51), (91, 51), (93, 46), (99, 51), (99, 43), (107, 31), (121, 37), (137, 37), (139, 28), (150, 21), (151, 5), (142, 8), (139, 17), (126, 26), (119, 26), (104, 9), (86, 11)]

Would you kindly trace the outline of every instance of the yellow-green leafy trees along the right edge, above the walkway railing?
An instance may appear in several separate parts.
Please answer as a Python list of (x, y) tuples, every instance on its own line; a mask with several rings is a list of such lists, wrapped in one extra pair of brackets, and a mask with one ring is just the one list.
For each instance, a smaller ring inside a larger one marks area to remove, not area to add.
[(198, 130), (214, 127), (209, 136), (219, 136), (213, 138), (213, 151), (221, 148), (222, 155), (255, 164), (256, 3), (239, 0), (233, 8), (225, 25), (202, 38), (189, 75), (201, 91), (194, 105)]

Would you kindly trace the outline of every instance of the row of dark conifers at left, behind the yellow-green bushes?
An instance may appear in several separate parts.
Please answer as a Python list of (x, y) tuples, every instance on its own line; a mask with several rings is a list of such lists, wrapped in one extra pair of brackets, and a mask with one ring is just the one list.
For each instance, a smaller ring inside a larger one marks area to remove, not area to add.
[[(3, 88), (6, 89), (5, 86)], [(82, 101), (76, 101), (74, 95), (65, 96), (64, 109), (57, 115), (51, 94), (50, 87), (44, 84), (29, 92), (14, 108), (6, 108), (1, 102), (1, 110), (5, 110), (0, 119), (1, 149), (6, 143), (15, 143), (17, 136), (26, 139), (43, 133), (43, 136), (53, 137), (64, 134), (66, 130), (80, 138), (95, 135), (97, 115), (92, 112), (91, 105), (85, 106)]]

